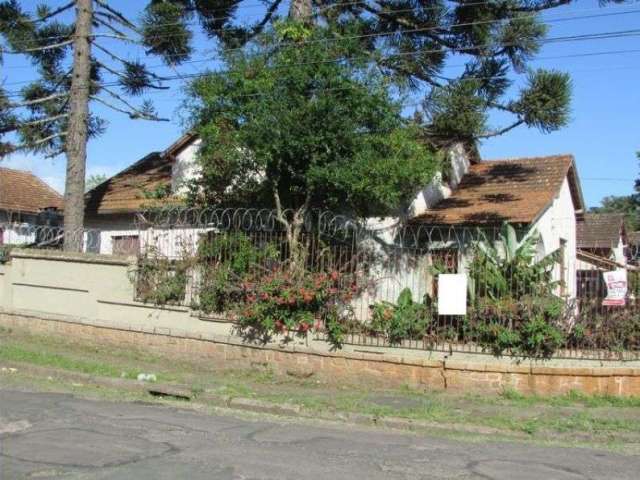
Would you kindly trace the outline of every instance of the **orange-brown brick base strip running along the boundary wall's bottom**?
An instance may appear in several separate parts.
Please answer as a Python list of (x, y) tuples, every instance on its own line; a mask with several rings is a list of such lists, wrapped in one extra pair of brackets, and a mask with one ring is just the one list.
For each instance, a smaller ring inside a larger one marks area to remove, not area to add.
[(640, 396), (640, 368), (541, 367), (529, 364), (462, 363), (387, 354), (327, 352), (306, 346), (255, 346), (232, 337), (189, 336), (187, 332), (110, 328), (82, 321), (0, 312), (0, 325), (34, 334), (59, 335), (94, 343), (132, 345), (164, 355), (198, 356), (216, 367), (269, 366), (281, 374), (331, 382), (357, 382), (387, 387), (449, 389), (499, 393), (507, 388), (523, 394)]

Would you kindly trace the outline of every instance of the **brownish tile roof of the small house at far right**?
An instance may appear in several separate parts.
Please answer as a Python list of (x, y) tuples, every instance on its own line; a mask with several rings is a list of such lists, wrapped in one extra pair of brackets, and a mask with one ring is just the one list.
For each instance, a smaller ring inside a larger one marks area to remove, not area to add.
[(614, 248), (624, 236), (624, 214), (585, 213), (576, 224), (578, 248)]

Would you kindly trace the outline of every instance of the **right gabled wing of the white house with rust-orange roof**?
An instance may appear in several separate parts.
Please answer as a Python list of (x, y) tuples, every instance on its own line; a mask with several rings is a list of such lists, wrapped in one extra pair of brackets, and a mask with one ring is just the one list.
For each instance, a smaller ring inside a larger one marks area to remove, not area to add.
[[(576, 219), (584, 211), (584, 200), (575, 161), (571, 155), (479, 160), (474, 157), (452, 159), (453, 181), (437, 178), (414, 201), (410, 224), (423, 229), (431, 241), (425, 261), (440, 265), (448, 273), (462, 272), (470, 258), (468, 247), (477, 231), (497, 231), (508, 222), (520, 232), (519, 239), (539, 235), (538, 258), (560, 251), (553, 279), (560, 282), (558, 294), (576, 294)], [(438, 192), (434, 194), (434, 192)], [(438, 235), (433, 235), (433, 232)], [(444, 241), (442, 237), (446, 238)], [(391, 243), (393, 234), (387, 235)], [(438, 244), (439, 243), (439, 244)], [(381, 290), (397, 294), (405, 286), (420, 285), (414, 292), (419, 299), (433, 294), (429, 273), (416, 279), (412, 268), (395, 268), (396, 274)], [(420, 271), (428, 272), (424, 265)], [(417, 283), (416, 283), (417, 282)], [(377, 296), (377, 294), (374, 294)]]

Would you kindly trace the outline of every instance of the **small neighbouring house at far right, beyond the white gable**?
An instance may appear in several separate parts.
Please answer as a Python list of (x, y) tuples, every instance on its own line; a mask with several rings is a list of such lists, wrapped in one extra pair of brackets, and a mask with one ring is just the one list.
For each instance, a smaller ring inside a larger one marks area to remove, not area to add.
[(622, 213), (585, 213), (577, 227), (578, 296), (604, 296), (602, 272), (627, 268), (630, 251)]

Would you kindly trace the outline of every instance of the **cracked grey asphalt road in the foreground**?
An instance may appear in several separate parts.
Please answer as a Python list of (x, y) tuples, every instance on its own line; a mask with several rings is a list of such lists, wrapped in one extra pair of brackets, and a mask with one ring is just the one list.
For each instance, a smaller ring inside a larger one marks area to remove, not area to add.
[(0, 479), (640, 478), (640, 457), (0, 390)]

